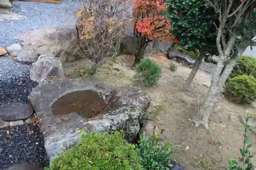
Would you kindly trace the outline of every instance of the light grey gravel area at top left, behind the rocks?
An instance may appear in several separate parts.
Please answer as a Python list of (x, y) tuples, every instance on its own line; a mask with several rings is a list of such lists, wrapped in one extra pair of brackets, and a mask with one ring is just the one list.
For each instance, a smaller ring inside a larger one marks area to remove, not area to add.
[(46, 4), (16, 1), (11, 12), (24, 16), (21, 20), (0, 21), (0, 46), (15, 43), (14, 37), (44, 27), (74, 25), (76, 12), (81, 8), (81, 0), (62, 0), (62, 4)]

